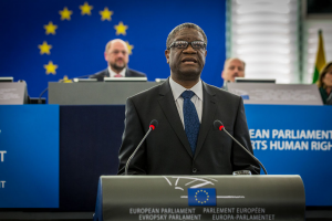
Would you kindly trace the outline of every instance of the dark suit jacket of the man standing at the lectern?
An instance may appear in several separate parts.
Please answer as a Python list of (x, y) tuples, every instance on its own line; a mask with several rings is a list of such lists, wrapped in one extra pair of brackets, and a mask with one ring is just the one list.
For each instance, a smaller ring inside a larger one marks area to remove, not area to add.
[(148, 130), (158, 126), (132, 159), (128, 173), (138, 175), (231, 175), (249, 169), (259, 173), (252, 160), (226, 133), (214, 128), (219, 119), (226, 129), (252, 152), (242, 98), (203, 83), (204, 107), (195, 156), (175, 105), (169, 80), (126, 102), (125, 130), (120, 149), (118, 173)]

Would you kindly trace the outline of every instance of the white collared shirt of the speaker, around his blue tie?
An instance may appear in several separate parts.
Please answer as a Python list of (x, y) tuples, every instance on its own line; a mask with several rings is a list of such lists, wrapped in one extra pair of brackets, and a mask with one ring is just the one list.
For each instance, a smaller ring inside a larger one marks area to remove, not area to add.
[(199, 78), (199, 82), (193, 86), (190, 90), (187, 90), (186, 87), (183, 87), (175, 81), (173, 81), (172, 77), (169, 77), (169, 85), (173, 93), (173, 97), (177, 107), (178, 115), (183, 122), (183, 125), (185, 127), (185, 120), (184, 120), (184, 98), (181, 97), (183, 92), (185, 91), (193, 91), (195, 95), (191, 97), (191, 102), (194, 103), (199, 123), (201, 123), (201, 114), (203, 114), (203, 83)]

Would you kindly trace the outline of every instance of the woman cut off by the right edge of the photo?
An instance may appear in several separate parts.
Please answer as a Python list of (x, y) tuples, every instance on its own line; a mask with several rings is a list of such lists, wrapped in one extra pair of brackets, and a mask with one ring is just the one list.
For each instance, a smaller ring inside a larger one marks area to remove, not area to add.
[(323, 103), (326, 104), (326, 99), (331, 95), (332, 91), (332, 62), (329, 62), (321, 71), (317, 84), (319, 86)]

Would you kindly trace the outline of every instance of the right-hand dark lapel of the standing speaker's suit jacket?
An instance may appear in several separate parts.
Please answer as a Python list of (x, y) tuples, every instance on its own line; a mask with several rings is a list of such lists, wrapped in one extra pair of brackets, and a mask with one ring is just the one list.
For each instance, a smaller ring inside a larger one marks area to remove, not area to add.
[(204, 140), (214, 124), (214, 117), (216, 114), (216, 94), (208, 87), (206, 83), (203, 83), (203, 115), (201, 115), (201, 124), (199, 128), (197, 146), (195, 151), (195, 157), (197, 157), (200, 151)]

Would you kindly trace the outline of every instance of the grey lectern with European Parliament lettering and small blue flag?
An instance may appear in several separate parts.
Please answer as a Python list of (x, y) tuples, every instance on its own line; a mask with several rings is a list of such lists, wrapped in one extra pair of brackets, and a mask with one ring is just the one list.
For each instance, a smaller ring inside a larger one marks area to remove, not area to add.
[(101, 176), (94, 221), (304, 220), (300, 176)]

